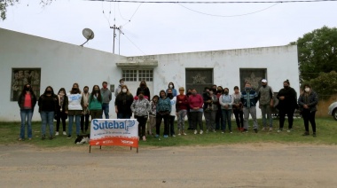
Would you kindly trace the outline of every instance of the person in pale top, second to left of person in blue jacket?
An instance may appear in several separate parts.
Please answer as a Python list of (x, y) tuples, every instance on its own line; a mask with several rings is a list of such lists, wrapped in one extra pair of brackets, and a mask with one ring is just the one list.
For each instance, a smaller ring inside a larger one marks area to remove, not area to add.
[(234, 98), (232, 98), (232, 96), (229, 93), (229, 89), (228, 88), (224, 88), (223, 89), (223, 95), (220, 96), (219, 98), (219, 103), (221, 105), (221, 109), (222, 109), (222, 114), (223, 114), (223, 127), (222, 129), (222, 133), (226, 132), (226, 124), (228, 124), (228, 130), (230, 133), (232, 133), (231, 131), (231, 112), (232, 112), (232, 106), (234, 103)]

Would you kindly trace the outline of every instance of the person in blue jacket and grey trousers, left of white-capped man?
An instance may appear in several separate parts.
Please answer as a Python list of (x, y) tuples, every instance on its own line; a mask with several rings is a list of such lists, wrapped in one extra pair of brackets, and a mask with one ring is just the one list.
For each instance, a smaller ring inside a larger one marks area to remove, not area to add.
[(258, 100), (258, 95), (255, 90), (252, 89), (250, 83), (245, 84), (245, 90), (241, 92), (241, 103), (243, 106), (243, 126), (244, 132), (248, 132), (248, 120), (249, 114), (252, 115), (253, 119), (253, 129), (254, 132), (257, 133), (258, 124), (256, 120), (256, 103)]

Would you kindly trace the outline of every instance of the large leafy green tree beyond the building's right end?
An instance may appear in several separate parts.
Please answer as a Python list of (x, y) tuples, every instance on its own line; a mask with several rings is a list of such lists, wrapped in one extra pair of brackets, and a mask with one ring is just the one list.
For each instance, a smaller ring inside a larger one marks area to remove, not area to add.
[(336, 71), (337, 28), (322, 27), (304, 34), (296, 42), (301, 82), (310, 82), (319, 73)]

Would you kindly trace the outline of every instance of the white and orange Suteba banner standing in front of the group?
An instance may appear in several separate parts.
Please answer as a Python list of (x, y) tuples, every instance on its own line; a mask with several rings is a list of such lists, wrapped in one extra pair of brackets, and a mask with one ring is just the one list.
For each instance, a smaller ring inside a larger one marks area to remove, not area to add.
[(89, 145), (138, 147), (136, 119), (94, 119), (90, 127)]

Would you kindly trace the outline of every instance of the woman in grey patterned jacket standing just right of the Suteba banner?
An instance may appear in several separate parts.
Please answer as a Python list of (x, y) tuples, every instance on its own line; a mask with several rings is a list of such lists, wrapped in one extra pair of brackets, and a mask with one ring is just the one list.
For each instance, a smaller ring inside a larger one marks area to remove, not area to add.
[(133, 101), (131, 105), (132, 113), (135, 114), (135, 118), (139, 122), (138, 125), (138, 137), (142, 137), (143, 141), (146, 141), (145, 137), (145, 125), (147, 121), (148, 113), (150, 112), (150, 102), (144, 98), (142, 91), (139, 92), (138, 98)]

